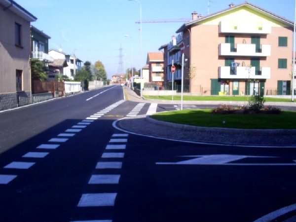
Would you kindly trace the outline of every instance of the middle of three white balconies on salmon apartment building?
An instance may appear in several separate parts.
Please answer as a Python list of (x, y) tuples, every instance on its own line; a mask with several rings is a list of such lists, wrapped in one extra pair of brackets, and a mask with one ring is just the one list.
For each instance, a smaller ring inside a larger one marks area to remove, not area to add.
[(256, 44), (235, 44), (236, 48), (231, 49), (230, 43), (221, 43), (219, 45), (220, 56), (254, 56), (266, 57), (270, 56), (271, 45), (261, 45), (259, 50), (256, 50)]

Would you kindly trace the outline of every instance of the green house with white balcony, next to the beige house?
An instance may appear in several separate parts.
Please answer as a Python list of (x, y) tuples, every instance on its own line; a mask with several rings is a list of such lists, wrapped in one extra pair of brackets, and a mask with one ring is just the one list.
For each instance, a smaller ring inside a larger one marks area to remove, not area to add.
[(32, 58), (44, 61), (48, 67), (48, 63), (53, 63), (53, 58), (48, 55), (48, 40), (50, 39), (42, 31), (31, 26), (31, 51)]

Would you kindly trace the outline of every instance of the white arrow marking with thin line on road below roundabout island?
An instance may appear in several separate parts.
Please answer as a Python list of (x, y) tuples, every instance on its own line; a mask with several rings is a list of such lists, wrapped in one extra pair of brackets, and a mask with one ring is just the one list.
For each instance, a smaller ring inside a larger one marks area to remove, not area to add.
[[(276, 156), (248, 156), (248, 155), (229, 155), (229, 154), (217, 154), (217, 155), (193, 155), (193, 156), (182, 156), (182, 157), (197, 157), (191, 158), (185, 161), (179, 162), (156, 162), (156, 164), (168, 164), (168, 165), (238, 165), (238, 166), (289, 166), (296, 165), (296, 163), (230, 163), (233, 161), (251, 158), (277, 158)], [(296, 162), (296, 160), (293, 160)]]

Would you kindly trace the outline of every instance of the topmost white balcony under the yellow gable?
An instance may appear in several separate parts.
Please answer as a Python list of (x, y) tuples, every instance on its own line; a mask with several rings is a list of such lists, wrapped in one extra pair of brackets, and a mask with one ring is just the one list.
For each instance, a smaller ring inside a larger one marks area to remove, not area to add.
[(271, 26), (267, 23), (252, 21), (221, 21), (220, 33), (270, 34)]

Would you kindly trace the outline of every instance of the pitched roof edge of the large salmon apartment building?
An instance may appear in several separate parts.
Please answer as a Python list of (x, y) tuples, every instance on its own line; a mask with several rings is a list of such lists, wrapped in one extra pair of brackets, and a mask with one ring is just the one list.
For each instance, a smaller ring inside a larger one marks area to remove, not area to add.
[(245, 1), (245, 2), (243, 2), (241, 4), (236, 4), (236, 5), (233, 5), (232, 7), (228, 7), (226, 9), (221, 10), (221, 11), (218, 11), (218, 12), (215, 12), (215, 13), (212, 13), (212, 14), (209, 14), (209, 15), (206, 15), (206, 16), (203, 16), (203, 17), (200, 17), (197, 20), (187, 22), (187, 23), (183, 24), (176, 31), (176, 33), (181, 33), (183, 31), (185, 31), (191, 25), (194, 25), (194, 24), (196, 24), (198, 22), (204, 21), (206, 19), (212, 18), (214, 16), (220, 15), (222, 13), (225, 13), (225, 12), (228, 12), (228, 11), (231, 11), (231, 10), (237, 9), (239, 7), (243, 7), (243, 6), (246, 6), (248, 8), (251, 8), (251, 9), (253, 9), (253, 10), (255, 10), (255, 11), (261, 13), (261, 14), (264, 14), (265, 16), (267, 16), (269, 18), (272, 18), (274, 20), (277, 20), (279, 22), (282, 22), (282, 23), (284, 23), (284, 24), (286, 24), (288, 26), (291, 26), (291, 27), (294, 26), (294, 22), (290, 21), (289, 19), (286, 19), (286, 18), (284, 18), (282, 16), (279, 16), (277, 14), (274, 14), (274, 13), (272, 13), (272, 12), (270, 12), (270, 11), (264, 9), (264, 8), (261, 8), (261, 7), (255, 5), (255, 4), (252, 4), (252, 3), (248, 2), (248, 1)]

